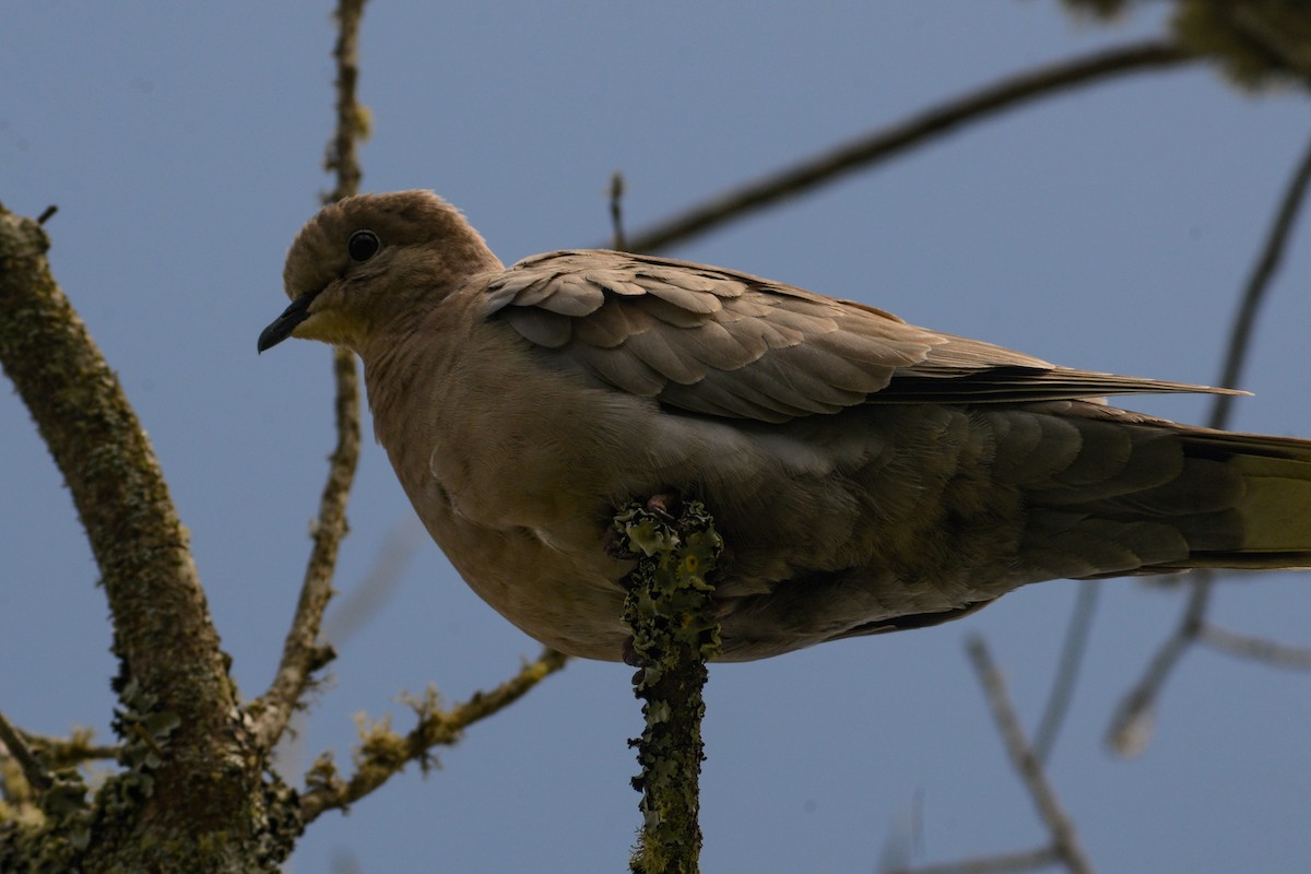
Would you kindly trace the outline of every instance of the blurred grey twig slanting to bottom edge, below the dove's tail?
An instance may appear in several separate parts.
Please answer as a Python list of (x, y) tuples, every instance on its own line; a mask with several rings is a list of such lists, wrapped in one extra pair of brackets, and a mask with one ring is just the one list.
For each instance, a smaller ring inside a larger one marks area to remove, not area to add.
[(1002, 740), (1011, 755), (1011, 763), (1029, 790), (1029, 797), (1033, 799), (1034, 807), (1037, 807), (1038, 816), (1042, 818), (1047, 832), (1051, 835), (1051, 852), (1070, 869), (1071, 874), (1091, 873), (1092, 864), (1083, 852), (1074, 823), (1061, 807), (1061, 802), (1057, 799), (1051, 785), (1047, 782), (1046, 773), (1042, 770), (1042, 763), (1033, 755), (1033, 750), (1024, 738), (1024, 729), (1020, 726), (1020, 719), (1015, 714), (1015, 706), (1011, 704), (1011, 698), (1006, 691), (1006, 680), (992, 663), (987, 645), (983, 642), (983, 638), (973, 637), (966, 643), (966, 649), (969, 650), (970, 662), (974, 664), (974, 671), (978, 674), (979, 683), (983, 685), (988, 706), (992, 709), (992, 718), (1002, 732)]

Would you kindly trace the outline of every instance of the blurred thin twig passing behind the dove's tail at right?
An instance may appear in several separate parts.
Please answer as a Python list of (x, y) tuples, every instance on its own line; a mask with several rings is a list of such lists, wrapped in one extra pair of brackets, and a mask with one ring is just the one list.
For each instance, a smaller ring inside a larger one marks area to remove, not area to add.
[[(1217, 383), (1223, 387), (1235, 387), (1242, 380), (1243, 366), (1248, 358), (1252, 334), (1256, 325), (1256, 316), (1265, 303), (1265, 294), (1274, 278), (1276, 271), (1283, 258), (1293, 227), (1297, 224), (1298, 214), (1306, 200), (1307, 190), (1311, 189), (1311, 144), (1307, 145), (1298, 162), (1297, 169), (1289, 178), (1280, 207), (1270, 223), (1261, 254), (1252, 267), (1252, 273), (1243, 288), (1243, 297), (1239, 301), (1238, 312), (1234, 316), (1234, 326), (1230, 330), (1228, 349), (1224, 363), (1221, 367), (1221, 377)], [(1213, 401), (1209, 425), (1222, 428), (1228, 425), (1231, 397), (1217, 394)], [(1196, 571), (1189, 580), (1190, 594), (1184, 605), (1183, 617), (1175, 632), (1162, 643), (1156, 655), (1147, 664), (1142, 679), (1125, 696), (1112, 718), (1106, 742), (1121, 755), (1137, 755), (1146, 747), (1151, 738), (1151, 714), (1156, 705), (1156, 696), (1162, 685), (1169, 677), (1175, 664), (1196, 642), (1203, 628), (1207, 628), (1206, 608), (1210, 603), (1210, 590), (1214, 584), (1214, 575), (1209, 570)], [(1218, 639), (1218, 638), (1217, 638)], [(1211, 641), (1213, 645), (1223, 646)], [(1269, 645), (1274, 647), (1276, 645)]]

